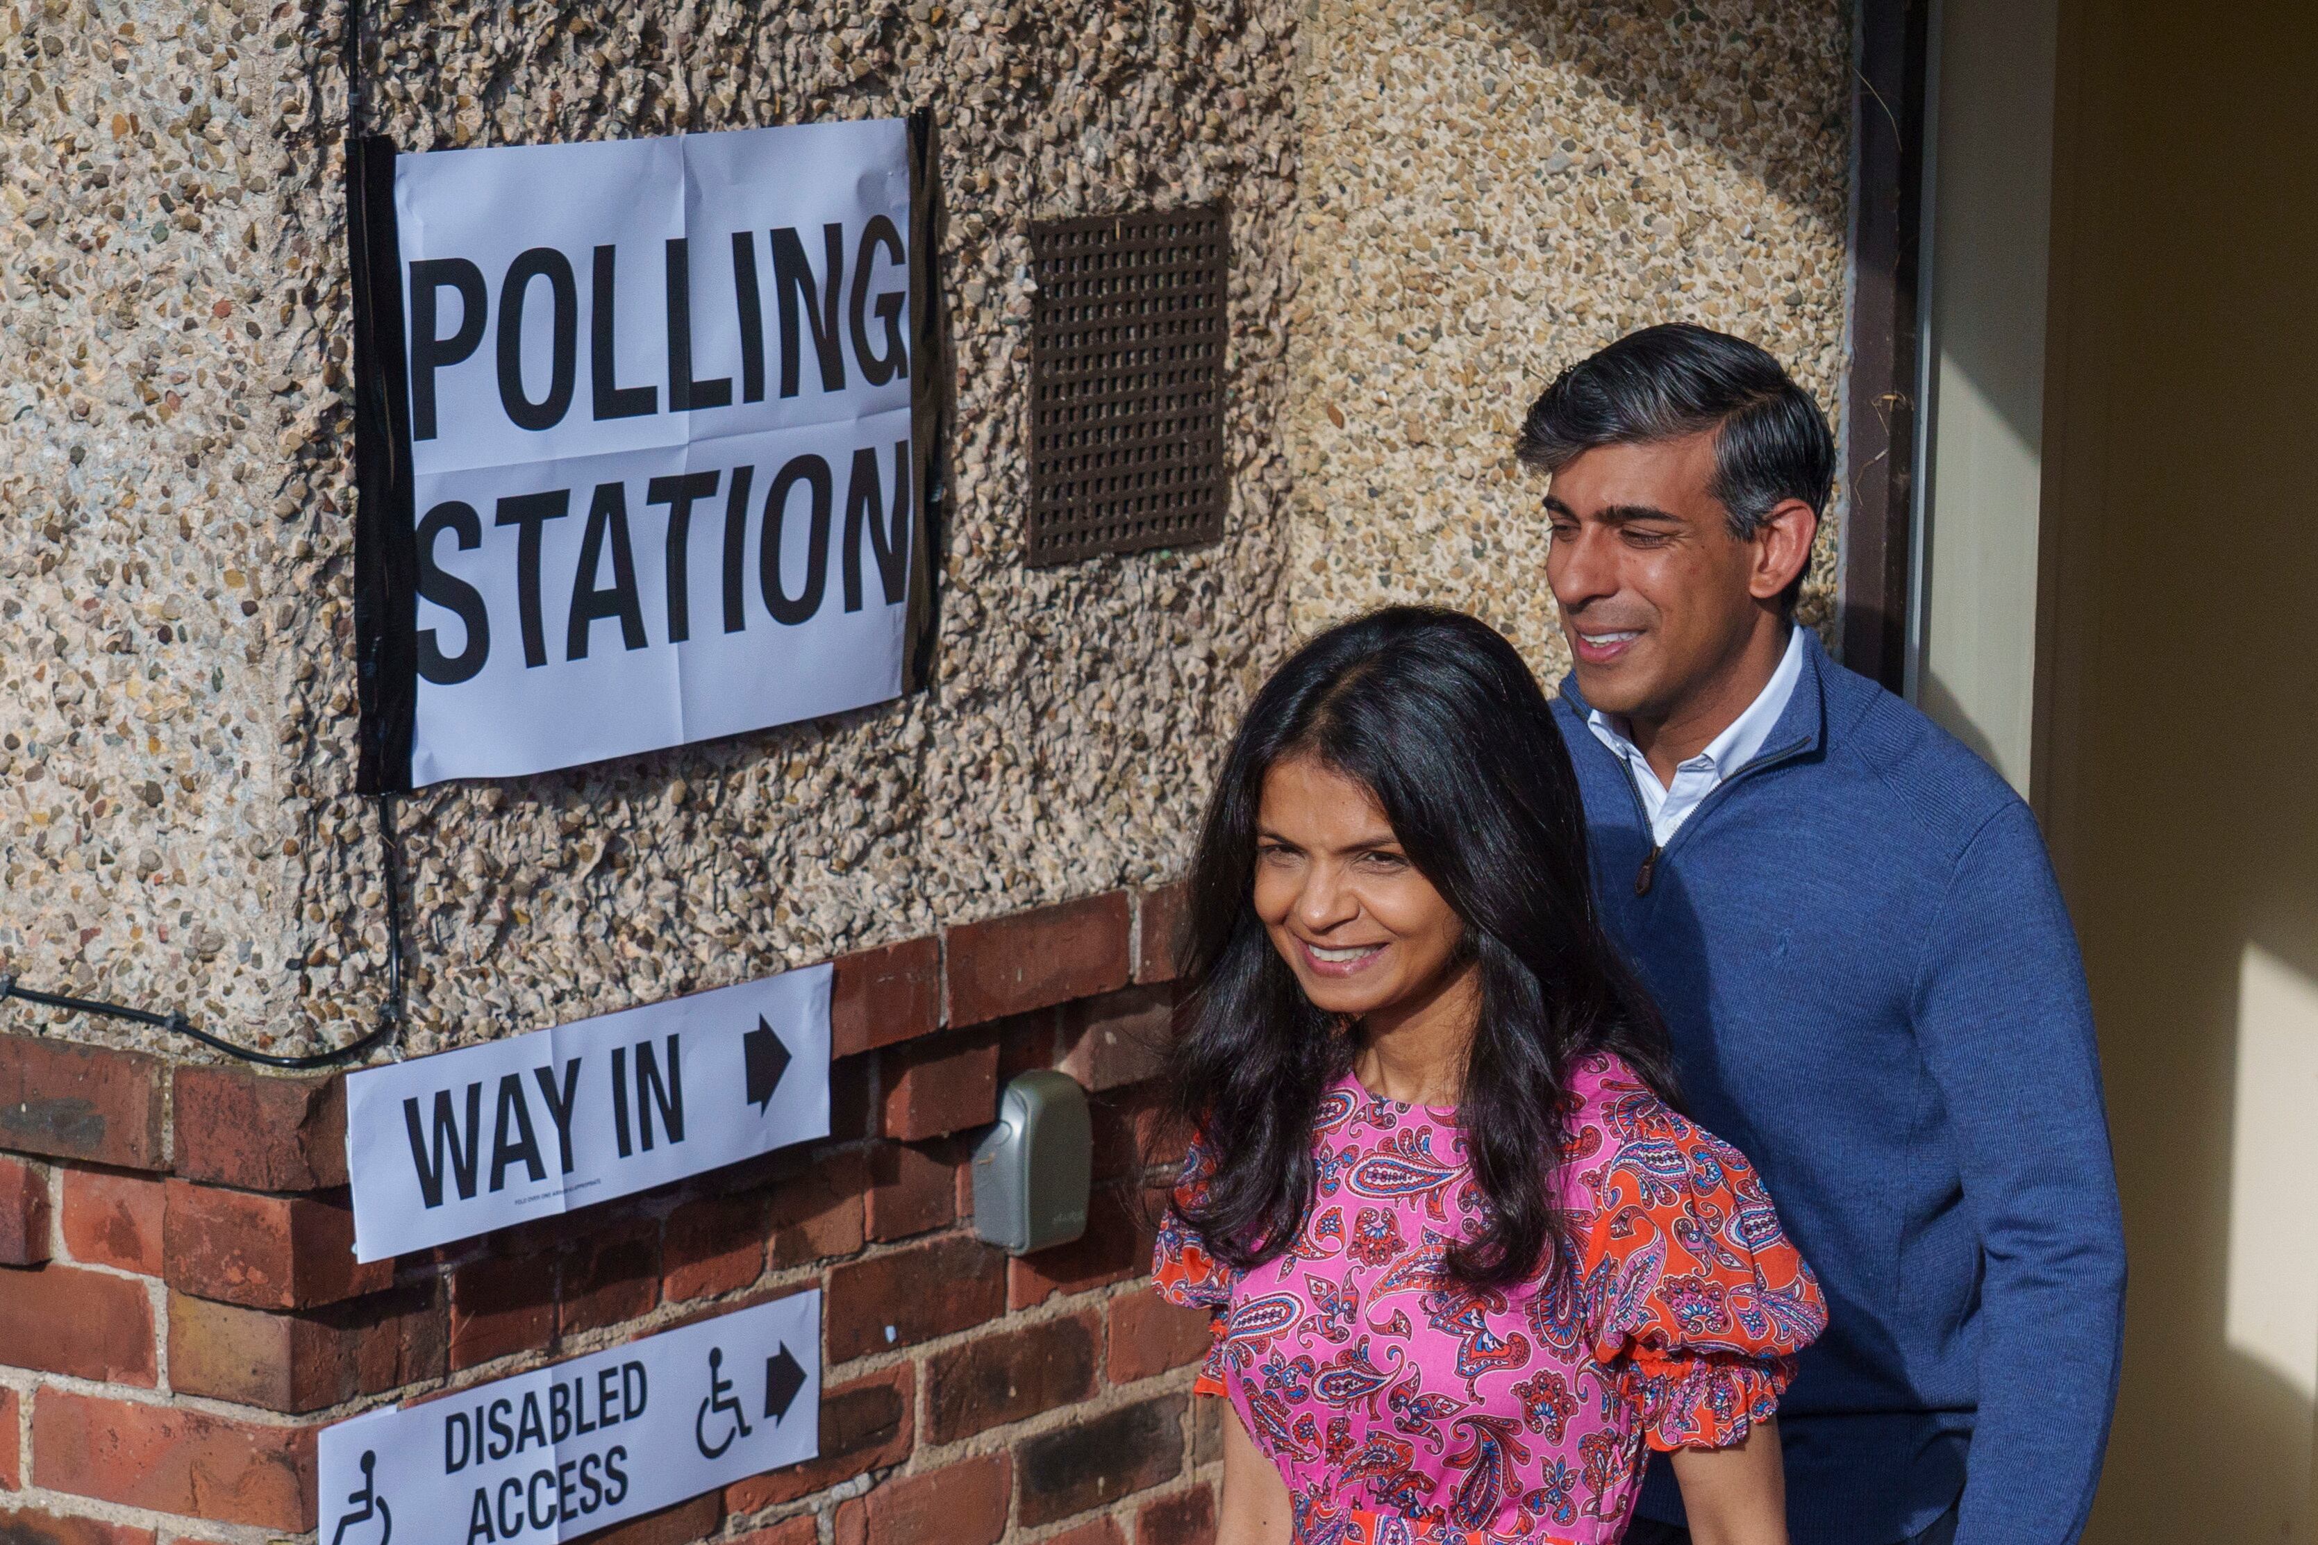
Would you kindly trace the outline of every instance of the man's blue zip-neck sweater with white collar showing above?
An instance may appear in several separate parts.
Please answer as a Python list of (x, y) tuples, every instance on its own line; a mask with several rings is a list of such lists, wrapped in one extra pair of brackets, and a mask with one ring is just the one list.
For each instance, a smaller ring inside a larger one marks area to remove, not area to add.
[[(2028, 806), (1806, 639), (1762, 755), (1653, 850), (1625, 764), (1555, 716), (1595, 892), (1692, 1114), (1762, 1170), (1827, 1288), (1780, 1401), (1796, 1545), (2084, 1529), (2126, 1246), (2077, 938)], [(1681, 1522), (1667, 1464), (1641, 1513)]]

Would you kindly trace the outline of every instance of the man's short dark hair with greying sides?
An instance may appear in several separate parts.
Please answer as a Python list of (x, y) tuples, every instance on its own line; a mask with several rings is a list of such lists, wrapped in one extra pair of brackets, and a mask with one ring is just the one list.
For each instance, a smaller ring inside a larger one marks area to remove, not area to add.
[[(1530, 403), (1516, 454), (1560, 473), (1604, 445), (1715, 435), (1711, 493), (1732, 535), (1750, 540), (1773, 505), (1827, 514), (1836, 438), (1810, 394), (1769, 352), (1706, 327), (1667, 322), (1618, 338), (1553, 378)], [(1801, 577), (1780, 600), (1792, 609)]]

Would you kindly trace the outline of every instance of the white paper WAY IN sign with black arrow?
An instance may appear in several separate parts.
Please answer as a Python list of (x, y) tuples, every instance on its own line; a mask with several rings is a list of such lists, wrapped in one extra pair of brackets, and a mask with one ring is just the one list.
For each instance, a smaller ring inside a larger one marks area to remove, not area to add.
[(825, 1137), (830, 980), (807, 966), (348, 1075), (355, 1258)]

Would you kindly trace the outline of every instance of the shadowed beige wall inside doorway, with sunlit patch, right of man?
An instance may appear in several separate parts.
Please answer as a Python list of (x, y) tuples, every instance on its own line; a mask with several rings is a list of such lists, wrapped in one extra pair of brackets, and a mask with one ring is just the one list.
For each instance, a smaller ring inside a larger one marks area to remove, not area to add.
[(2038, 808), (2126, 1246), (2093, 1545), (2318, 1538), (2318, 14), (2063, 12)]

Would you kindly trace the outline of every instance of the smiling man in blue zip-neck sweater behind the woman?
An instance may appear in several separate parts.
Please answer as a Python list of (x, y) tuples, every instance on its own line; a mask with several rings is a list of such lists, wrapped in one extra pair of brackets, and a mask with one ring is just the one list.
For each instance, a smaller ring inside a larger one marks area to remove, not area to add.
[[(1521, 459), (1604, 922), (1827, 1288), (1778, 1411), (1796, 1545), (2075, 1540), (2126, 1265), (2035, 818), (1794, 625), (1836, 454), (1766, 352), (1632, 334), (1537, 398)], [(1641, 1520), (1688, 1538), (1664, 1464)]]

